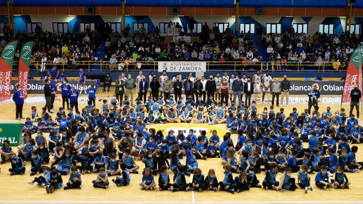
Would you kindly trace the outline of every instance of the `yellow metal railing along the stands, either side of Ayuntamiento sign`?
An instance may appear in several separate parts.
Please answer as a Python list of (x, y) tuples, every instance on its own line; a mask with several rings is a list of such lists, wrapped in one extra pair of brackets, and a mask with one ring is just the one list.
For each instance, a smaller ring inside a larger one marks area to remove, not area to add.
[[(18, 61), (14, 61), (13, 69), (17, 70)], [(132, 71), (138, 70), (139, 67), (145, 71), (158, 71), (158, 61), (118, 61), (118, 64), (115, 65), (114, 71), (123, 70), (123, 71)], [(123, 63), (123, 68), (119, 64)], [(303, 71), (322, 71), (322, 72), (337, 72), (339, 70), (335, 70), (333, 65), (338, 66), (339, 62), (319, 62), (321, 65), (316, 65), (316, 62), (287, 62), (286, 64), (281, 64), (280, 62), (206, 62), (206, 71), (233, 71), (233, 72), (244, 72), (244, 71), (273, 71), (279, 72), (284, 71), (285, 69), (293, 72), (303, 72)], [(335, 64), (334, 64), (335, 63)], [(54, 64), (53, 61), (30, 61), (30, 71), (40, 71), (42, 66), (46, 66), (45, 70), (48, 71), (54, 65), (57, 66), (57, 69), (60, 72), (64, 71), (78, 71), (79, 68), (84, 69), (88, 72), (106, 72), (110, 70), (110, 63), (104, 61), (77, 61), (76, 65), (70, 65), (68, 63), (60, 62), (58, 64)], [(139, 66), (138, 66), (139, 65)], [(279, 69), (281, 67), (281, 69)], [(306, 68), (309, 68), (306, 70)]]

